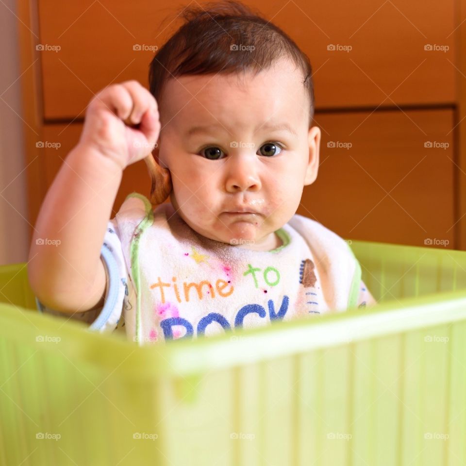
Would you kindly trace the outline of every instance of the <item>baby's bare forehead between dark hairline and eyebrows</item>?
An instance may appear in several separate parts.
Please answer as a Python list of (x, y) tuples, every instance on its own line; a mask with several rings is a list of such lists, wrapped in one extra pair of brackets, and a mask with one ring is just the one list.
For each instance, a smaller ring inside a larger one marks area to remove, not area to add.
[(228, 115), (302, 118), (309, 112), (302, 73), (294, 66), (278, 65), (258, 73), (171, 78), (159, 103), (161, 119), (189, 125)]

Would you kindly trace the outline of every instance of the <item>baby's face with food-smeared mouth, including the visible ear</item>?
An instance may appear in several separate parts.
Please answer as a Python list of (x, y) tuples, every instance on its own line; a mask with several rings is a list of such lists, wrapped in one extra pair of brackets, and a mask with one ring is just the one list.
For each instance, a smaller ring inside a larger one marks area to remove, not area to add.
[(300, 71), (282, 59), (255, 77), (181, 76), (158, 103), (154, 155), (170, 170), (170, 200), (183, 220), (223, 243), (280, 246), (274, 232), (296, 213), (318, 169), (320, 131), (309, 129)]

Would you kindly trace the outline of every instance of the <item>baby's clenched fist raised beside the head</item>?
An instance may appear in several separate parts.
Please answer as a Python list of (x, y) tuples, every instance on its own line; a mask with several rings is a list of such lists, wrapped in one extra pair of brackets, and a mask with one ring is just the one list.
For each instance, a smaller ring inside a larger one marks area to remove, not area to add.
[[(138, 128), (123, 122), (128, 118)], [(144, 159), (160, 133), (157, 101), (137, 81), (111, 84), (89, 103), (79, 144), (98, 150), (124, 170)]]

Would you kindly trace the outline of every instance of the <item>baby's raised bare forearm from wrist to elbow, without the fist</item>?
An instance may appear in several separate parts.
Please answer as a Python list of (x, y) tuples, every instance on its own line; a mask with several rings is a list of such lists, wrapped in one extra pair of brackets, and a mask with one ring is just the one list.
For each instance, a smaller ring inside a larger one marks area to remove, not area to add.
[(103, 304), (100, 249), (121, 177), (121, 168), (92, 147), (78, 144), (67, 155), (42, 204), (29, 252), (29, 282), (47, 307), (72, 313)]

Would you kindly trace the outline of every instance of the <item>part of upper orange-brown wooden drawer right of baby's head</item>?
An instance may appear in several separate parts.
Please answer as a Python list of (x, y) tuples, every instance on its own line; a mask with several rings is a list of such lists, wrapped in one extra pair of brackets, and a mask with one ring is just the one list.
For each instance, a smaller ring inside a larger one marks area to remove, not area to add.
[[(266, 11), (273, 16), (281, 6)], [(300, 0), (274, 20), (310, 58), (317, 108), (444, 103), (455, 99), (454, 7), (453, 0)]]

